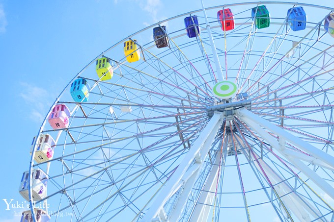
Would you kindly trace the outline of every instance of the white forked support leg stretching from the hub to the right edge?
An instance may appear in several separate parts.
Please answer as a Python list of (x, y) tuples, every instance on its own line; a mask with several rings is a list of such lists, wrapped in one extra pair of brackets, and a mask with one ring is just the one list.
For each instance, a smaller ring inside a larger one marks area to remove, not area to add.
[[(318, 158), (330, 166), (334, 165), (334, 157), (328, 153), (313, 147), (312, 145), (306, 143), (305, 141), (293, 136), (292, 134), (286, 132), (285, 130), (279, 128), (278, 126), (264, 120), (263, 118), (251, 113), (247, 109), (236, 110), (238, 117), (245, 123), (251, 126), (251, 128), (256, 131), (263, 139), (265, 139), (273, 148), (275, 148), (279, 153), (281, 153), (285, 158), (287, 158), (298, 170), (303, 172), (308, 178), (310, 178), (315, 184), (317, 184), (320, 189), (322, 189), (326, 194), (334, 199), (334, 188), (328, 184), (323, 178), (321, 178), (316, 172), (312, 171), (306, 166), (301, 160), (289, 156), (285, 153), (285, 140), (294, 144), (296, 147), (306, 150), (308, 153), (312, 154), (314, 157)], [(279, 142), (267, 133), (260, 125), (279, 136)]]

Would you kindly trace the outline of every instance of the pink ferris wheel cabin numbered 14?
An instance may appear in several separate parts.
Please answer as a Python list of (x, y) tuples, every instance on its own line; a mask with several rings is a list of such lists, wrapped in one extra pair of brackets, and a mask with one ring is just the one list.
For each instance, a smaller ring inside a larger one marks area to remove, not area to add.
[(66, 128), (68, 127), (70, 115), (71, 112), (65, 104), (58, 104), (49, 116), (49, 123), (54, 129)]

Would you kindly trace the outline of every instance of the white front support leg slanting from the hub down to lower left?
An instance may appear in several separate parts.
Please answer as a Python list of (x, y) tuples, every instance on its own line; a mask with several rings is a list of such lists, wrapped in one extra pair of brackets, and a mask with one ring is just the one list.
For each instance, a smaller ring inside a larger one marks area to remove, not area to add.
[[(164, 205), (181, 186), (184, 187), (183, 192), (186, 192), (184, 193), (184, 198), (189, 197), (192, 190), (191, 188), (193, 188), (194, 185), (193, 183), (195, 183), (198, 178), (198, 173), (203, 166), (204, 160), (211, 148), (211, 144), (223, 124), (223, 117), (223, 113), (221, 112), (216, 112), (213, 115), (209, 123), (204, 127), (203, 131), (189, 149), (176, 171), (169, 178), (165, 186), (160, 190), (151, 207), (146, 212), (145, 217), (142, 220), (143, 222), (164, 220), (159, 218), (161, 212), (164, 211)], [(196, 161), (195, 164), (192, 165), (194, 159)], [(186, 203), (186, 201), (181, 198), (177, 201), (182, 201), (184, 204)], [(180, 206), (181, 211), (179, 212), (179, 215), (182, 212), (184, 204), (181, 204)]]

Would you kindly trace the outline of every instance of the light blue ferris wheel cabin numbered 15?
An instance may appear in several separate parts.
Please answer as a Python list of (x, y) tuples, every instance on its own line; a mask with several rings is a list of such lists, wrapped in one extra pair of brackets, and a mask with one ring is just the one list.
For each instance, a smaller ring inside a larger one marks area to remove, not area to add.
[(76, 102), (86, 102), (89, 99), (89, 84), (83, 78), (74, 80), (71, 84), (71, 96)]

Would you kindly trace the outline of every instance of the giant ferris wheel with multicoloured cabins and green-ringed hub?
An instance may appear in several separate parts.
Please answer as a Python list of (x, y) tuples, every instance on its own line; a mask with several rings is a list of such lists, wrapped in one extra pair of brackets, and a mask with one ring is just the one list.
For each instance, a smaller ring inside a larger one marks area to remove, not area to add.
[(33, 139), (23, 220), (334, 221), (333, 37), (332, 8), (251, 2), (119, 41)]

